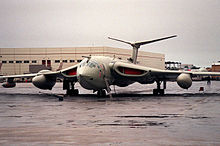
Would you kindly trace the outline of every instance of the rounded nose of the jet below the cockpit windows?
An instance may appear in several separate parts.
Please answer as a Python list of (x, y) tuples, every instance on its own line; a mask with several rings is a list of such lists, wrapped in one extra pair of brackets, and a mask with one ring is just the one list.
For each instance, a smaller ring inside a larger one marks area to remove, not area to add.
[(81, 67), (77, 69), (77, 79), (80, 85), (89, 90), (99, 90), (105, 88), (103, 78), (97, 68)]

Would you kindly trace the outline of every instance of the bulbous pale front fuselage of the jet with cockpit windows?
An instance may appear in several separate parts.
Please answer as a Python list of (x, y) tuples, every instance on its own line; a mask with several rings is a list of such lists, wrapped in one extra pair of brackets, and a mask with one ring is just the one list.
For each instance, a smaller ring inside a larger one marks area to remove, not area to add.
[(106, 82), (112, 81), (109, 64), (114, 58), (92, 56), (84, 58), (77, 67), (77, 79), (80, 85), (89, 90), (98, 91), (106, 88)]

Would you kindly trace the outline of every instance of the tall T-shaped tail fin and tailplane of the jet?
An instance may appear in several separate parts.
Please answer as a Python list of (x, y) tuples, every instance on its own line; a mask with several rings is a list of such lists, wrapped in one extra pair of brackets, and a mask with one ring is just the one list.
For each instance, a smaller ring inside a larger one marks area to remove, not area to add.
[(164, 38), (159, 38), (159, 39), (155, 39), (155, 40), (150, 40), (150, 41), (139, 41), (139, 42), (128, 42), (128, 41), (124, 41), (124, 40), (119, 40), (116, 38), (112, 38), (112, 37), (108, 37), (108, 39), (114, 40), (114, 41), (118, 41), (118, 42), (122, 42), (122, 43), (126, 43), (129, 44), (133, 47), (133, 53), (132, 53), (132, 57), (130, 58), (130, 61), (134, 64), (137, 63), (137, 55), (138, 55), (138, 49), (140, 48), (141, 45), (145, 45), (145, 44), (150, 44), (150, 43), (154, 43), (157, 41), (162, 41), (165, 39), (170, 39), (173, 37), (176, 37), (177, 35), (173, 35), (173, 36), (169, 36), (169, 37), (164, 37)]

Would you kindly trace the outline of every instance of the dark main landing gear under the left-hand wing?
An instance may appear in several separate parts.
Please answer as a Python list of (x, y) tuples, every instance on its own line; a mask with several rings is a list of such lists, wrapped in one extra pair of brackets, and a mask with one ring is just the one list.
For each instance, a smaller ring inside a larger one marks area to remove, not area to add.
[(65, 80), (63, 81), (63, 90), (66, 90), (66, 95), (78, 95), (79, 90), (74, 88), (75, 82), (74, 81), (68, 81)]

